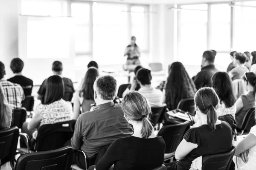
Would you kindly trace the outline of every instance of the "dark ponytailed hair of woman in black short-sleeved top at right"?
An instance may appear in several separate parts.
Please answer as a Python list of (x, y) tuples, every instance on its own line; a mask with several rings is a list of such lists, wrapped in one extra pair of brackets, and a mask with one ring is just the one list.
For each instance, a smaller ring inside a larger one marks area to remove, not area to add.
[(219, 98), (213, 88), (201, 88), (195, 94), (195, 107), (199, 111), (207, 115), (207, 124), (211, 130), (216, 129), (217, 107)]

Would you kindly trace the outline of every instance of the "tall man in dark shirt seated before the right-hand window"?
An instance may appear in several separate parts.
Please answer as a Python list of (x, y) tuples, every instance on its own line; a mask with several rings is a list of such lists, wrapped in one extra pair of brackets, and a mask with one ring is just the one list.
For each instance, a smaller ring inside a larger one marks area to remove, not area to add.
[(201, 71), (195, 76), (194, 82), (197, 89), (212, 87), (212, 76), (218, 72), (214, 65), (215, 55), (212, 51), (204, 51), (201, 61)]

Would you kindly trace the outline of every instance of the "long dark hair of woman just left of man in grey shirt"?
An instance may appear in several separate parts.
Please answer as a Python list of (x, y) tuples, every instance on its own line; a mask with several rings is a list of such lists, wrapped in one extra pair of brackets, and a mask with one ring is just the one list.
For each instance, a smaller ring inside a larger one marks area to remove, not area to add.
[(99, 72), (96, 68), (91, 67), (87, 70), (84, 77), (84, 83), (79, 94), (80, 97), (83, 97), (84, 99), (88, 100), (94, 99), (93, 84), (98, 76)]

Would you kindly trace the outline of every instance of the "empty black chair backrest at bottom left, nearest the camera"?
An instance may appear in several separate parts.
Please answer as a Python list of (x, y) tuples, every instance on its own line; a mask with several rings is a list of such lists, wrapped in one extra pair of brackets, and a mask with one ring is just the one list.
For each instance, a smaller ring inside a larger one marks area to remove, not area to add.
[(74, 150), (70, 146), (26, 153), (17, 159), (15, 170), (70, 170), (73, 154)]

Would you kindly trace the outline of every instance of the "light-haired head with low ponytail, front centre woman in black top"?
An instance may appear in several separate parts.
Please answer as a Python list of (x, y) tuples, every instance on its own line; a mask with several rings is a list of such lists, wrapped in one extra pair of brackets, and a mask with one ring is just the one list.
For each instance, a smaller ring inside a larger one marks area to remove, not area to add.
[(122, 100), (122, 111), (126, 119), (142, 122), (140, 131), (142, 138), (146, 139), (153, 133), (153, 126), (148, 120), (151, 107), (145, 96), (137, 91), (129, 92)]

